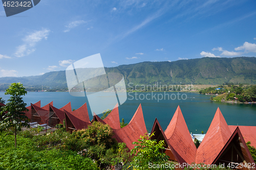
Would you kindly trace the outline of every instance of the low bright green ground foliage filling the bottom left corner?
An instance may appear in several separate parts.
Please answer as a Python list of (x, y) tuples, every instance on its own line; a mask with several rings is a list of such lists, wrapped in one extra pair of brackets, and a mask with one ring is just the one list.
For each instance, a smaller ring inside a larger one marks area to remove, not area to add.
[(17, 140), (20, 145), (15, 149), (13, 138), (7, 132), (0, 133), (0, 169), (99, 169), (92, 159), (84, 158), (77, 152), (38, 148), (33, 137), (19, 136)]

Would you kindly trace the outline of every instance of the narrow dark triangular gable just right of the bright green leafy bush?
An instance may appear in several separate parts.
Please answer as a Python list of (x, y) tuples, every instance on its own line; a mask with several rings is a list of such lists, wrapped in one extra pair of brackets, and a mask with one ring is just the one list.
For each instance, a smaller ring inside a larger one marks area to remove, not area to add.
[(168, 142), (164, 131), (161, 127), (161, 125), (159, 124), (157, 118), (155, 119), (155, 122), (153, 124), (152, 130), (151, 130), (151, 135), (152, 133), (154, 133), (154, 135), (151, 137), (152, 140), (157, 140), (157, 142), (159, 142), (160, 140), (164, 140), (164, 148), (165, 150), (163, 150), (162, 152), (165, 153), (167, 156), (169, 156), (169, 160), (170, 161), (177, 161), (177, 162), (185, 162), (181, 156), (179, 156), (179, 154), (174, 150), (174, 148), (172, 147), (172, 145), (170, 145), (170, 143)]

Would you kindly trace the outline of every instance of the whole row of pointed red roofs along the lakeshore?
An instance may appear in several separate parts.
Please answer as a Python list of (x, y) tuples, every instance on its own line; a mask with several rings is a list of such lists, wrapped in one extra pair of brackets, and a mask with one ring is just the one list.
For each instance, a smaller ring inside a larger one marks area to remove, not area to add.
[[(118, 142), (126, 143), (130, 150), (134, 148), (132, 142), (138, 141), (141, 135), (147, 133), (141, 105), (139, 105), (130, 123), (123, 128), (120, 128), (118, 105), (103, 120), (94, 114), (92, 121), (89, 119), (86, 103), (74, 111), (71, 109), (71, 103), (57, 109), (53, 107), (53, 102), (41, 107), (40, 101), (31, 104), (27, 108), (29, 109), (29, 112), (26, 112), (28, 117), (31, 116), (31, 112), (34, 110), (40, 116), (41, 123), (45, 124), (49, 118), (49, 113), (54, 112), (59, 120), (58, 123), (62, 124), (63, 119), (66, 119), (67, 131), (70, 132), (74, 129), (87, 128), (93, 121), (108, 124), (114, 131), (115, 135), (113, 137)], [(152, 139), (164, 140), (165, 153), (170, 156), (170, 160), (179, 163), (216, 164), (221, 160), (220, 158), (225, 159), (225, 153), (231, 150), (230, 145), (232, 145), (232, 149), (236, 147), (236, 143), (234, 144), (236, 141), (239, 143), (240, 152), (238, 149), (236, 150), (242, 162), (254, 162), (245, 142), (250, 141), (251, 145), (256, 148), (256, 126), (228, 126), (219, 108), (198, 149), (191, 138), (179, 106), (166, 130), (163, 131), (156, 118), (151, 133), (153, 132), (155, 132), (155, 135)], [(231, 151), (229, 155), (231, 155)]]

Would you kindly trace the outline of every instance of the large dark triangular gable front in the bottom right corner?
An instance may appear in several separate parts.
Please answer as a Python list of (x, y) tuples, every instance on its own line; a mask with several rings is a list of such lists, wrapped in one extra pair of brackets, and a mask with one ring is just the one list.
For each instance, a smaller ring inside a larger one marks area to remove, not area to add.
[[(231, 165), (231, 163), (233, 163), (234, 166), (237, 165), (234, 163), (243, 164), (240, 164), (238, 167), (242, 167), (245, 165), (248, 166), (248, 163), (249, 165), (252, 165), (252, 163), (254, 163), (239, 127), (237, 127), (237, 129), (233, 132), (229, 140), (225, 143), (219, 155), (212, 162), (212, 164), (224, 164), (224, 166), (227, 166), (228, 164)], [(244, 167), (242, 168), (244, 169)], [(245, 169), (253, 168), (247, 167)]]

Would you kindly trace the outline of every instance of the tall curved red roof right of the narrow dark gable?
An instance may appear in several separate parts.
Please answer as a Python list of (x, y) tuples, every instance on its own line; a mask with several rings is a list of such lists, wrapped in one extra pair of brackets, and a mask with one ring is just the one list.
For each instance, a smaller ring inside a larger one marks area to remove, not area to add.
[(197, 148), (187, 129), (180, 106), (178, 106), (172, 120), (170, 120), (168, 127), (164, 131), (164, 134), (174, 150), (186, 163), (190, 164), (195, 162)]

